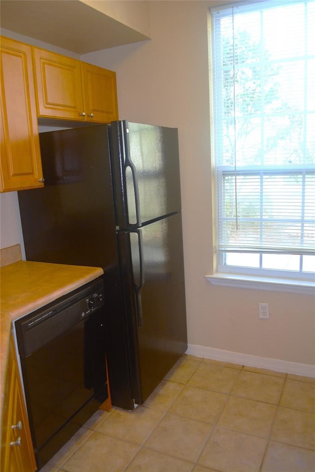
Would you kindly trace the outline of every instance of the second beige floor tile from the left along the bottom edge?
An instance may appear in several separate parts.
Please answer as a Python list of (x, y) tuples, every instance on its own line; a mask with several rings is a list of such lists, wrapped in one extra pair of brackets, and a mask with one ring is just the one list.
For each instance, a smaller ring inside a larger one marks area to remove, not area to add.
[(63, 465), (67, 472), (121, 472), (139, 446), (107, 435), (92, 433)]

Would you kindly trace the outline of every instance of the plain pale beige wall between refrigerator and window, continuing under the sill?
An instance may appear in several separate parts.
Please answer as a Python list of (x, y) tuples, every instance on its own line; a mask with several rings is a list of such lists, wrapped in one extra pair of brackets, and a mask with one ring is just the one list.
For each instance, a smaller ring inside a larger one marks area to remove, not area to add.
[[(213, 270), (210, 3), (150, 1), (152, 40), (81, 59), (116, 70), (121, 119), (179, 129), (189, 343), (315, 364), (313, 297), (217, 287), (204, 278)], [(269, 320), (259, 320), (259, 302), (269, 303)]]

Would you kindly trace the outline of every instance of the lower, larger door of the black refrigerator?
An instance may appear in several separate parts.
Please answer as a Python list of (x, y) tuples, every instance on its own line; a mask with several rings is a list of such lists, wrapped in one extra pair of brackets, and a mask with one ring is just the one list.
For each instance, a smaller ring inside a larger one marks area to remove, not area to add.
[[(120, 232), (119, 240), (124, 256), (127, 311), (135, 313), (129, 320), (129, 329), (130, 338), (137, 345), (133, 376), (139, 378), (139, 383), (135, 382), (134, 397), (141, 404), (187, 349), (181, 213), (146, 225), (138, 232)], [(137, 313), (139, 287), (141, 323)]]

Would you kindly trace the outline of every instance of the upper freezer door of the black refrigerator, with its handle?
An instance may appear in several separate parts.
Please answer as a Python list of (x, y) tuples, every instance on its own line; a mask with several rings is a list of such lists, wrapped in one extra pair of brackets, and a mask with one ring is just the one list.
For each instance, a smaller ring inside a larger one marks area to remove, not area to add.
[(138, 228), (181, 209), (176, 128), (111, 124), (117, 226)]

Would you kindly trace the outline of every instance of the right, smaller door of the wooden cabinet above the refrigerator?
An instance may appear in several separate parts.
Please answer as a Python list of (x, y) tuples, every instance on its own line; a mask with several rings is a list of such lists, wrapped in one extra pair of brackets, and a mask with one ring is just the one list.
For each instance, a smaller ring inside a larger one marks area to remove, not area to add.
[(116, 73), (81, 62), (86, 120), (109, 123), (118, 120)]

